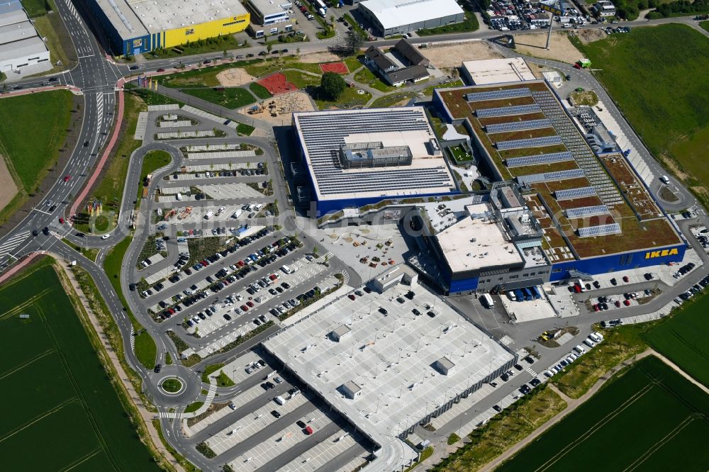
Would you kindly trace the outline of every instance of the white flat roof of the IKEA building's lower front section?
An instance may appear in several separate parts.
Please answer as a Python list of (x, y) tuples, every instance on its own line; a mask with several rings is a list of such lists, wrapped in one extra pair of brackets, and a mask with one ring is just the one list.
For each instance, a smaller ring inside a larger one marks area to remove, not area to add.
[(506, 240), (500, 227), (484, 217), (488, 211), (485, 203), (467, 206), (466, 210), (471, 216), (436, 235), (453, 272), (523, 262), (515, 245)]

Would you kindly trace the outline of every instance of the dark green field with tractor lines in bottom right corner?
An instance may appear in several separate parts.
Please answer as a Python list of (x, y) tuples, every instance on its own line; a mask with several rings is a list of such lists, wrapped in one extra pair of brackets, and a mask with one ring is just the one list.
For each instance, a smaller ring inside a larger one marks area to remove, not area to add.
[(648, 356), (497, 468), (705, 471), (709, 395)]

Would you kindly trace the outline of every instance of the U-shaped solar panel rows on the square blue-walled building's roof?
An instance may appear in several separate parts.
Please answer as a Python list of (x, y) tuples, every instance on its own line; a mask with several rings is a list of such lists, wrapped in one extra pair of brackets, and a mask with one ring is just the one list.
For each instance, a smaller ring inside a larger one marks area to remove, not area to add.
[(321, 195), (379, 192), (415, 194), (418, 189), (454, 186), (445, 165), (431, 167), (382, 167), (376, 172), (345, 171), (338, 164), (345, 137), (393, 131), (425, 131), (434, 138), (421, 107), (374, 108), (350, 113), (320, 112), (294, 116), (303, 136), (303, 147)]

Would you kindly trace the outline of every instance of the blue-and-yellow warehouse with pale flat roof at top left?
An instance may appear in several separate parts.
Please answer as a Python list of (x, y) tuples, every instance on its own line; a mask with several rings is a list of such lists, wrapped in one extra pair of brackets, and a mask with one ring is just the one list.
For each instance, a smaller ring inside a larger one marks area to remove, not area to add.
[(143, 54), (239, 33), (250, 20), (238, 0), (90, 0), (88, 6), (116, 55)]

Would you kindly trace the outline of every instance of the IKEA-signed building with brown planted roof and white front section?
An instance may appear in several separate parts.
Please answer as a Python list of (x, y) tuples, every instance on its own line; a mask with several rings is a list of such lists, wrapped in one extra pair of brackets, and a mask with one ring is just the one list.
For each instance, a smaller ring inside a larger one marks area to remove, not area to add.
[(452, 227), (423, 224), (449, 293), (683, 259), (686, 241), (635, 169), (622, 154), (594, 152), (545, 81), (437, 89), (433, 104), (467, 130), (479, 167), (498, 181)]

